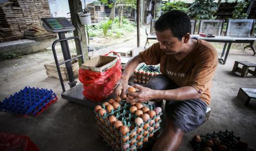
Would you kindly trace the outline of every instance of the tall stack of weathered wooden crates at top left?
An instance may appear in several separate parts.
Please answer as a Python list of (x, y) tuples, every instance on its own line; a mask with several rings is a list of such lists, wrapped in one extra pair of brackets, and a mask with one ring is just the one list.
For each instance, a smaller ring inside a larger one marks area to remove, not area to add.
[(41, 27), (40, 18), (50, 16), (47, 0), (9, 0), (0, 4), (0, 42), (24, 38), (28, 26)]

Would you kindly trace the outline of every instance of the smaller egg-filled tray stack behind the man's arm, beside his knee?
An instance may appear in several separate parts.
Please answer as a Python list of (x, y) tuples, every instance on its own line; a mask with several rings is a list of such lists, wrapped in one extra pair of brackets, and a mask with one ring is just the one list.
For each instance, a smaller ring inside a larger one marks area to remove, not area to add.
[(146, 84), (151, 77), (160, 73), (159, 67), (142, 65), (138, 69), (138, 72), (133, 72), (133, 82), (138, 84)]

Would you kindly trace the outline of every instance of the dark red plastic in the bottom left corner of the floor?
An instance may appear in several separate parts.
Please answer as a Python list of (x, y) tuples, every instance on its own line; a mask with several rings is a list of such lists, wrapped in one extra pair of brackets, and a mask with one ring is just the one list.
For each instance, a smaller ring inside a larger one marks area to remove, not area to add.
[(37, 146), (28, 136), (0, 132), (0, 150), (37, 151)]

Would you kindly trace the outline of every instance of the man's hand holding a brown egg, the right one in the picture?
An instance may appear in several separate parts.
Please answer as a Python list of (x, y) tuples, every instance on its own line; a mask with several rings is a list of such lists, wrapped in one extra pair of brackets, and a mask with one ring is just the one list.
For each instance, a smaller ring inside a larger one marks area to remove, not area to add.
[(154, 93), (155, 92), (152, 89), (135, 84), (133, 86), (129, 86), (128, 88), (127, 102), (129, 103), (146, 102), (154, 98)]

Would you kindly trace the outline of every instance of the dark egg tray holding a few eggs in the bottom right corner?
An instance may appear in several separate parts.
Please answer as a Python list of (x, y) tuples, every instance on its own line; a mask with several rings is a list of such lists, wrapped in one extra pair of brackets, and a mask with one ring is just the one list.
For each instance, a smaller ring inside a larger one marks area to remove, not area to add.
[(201, 143), (194, 143), (193, 139), (190, 141), (194, 150), (203, 150), (204, 142), (206, 140), (212, 140), (213, 138), (219, 138), (222, 145), (225, 145), (228, 150), (236, 151), (236, 144), (240, 140), (240, 137), (236, 137), (234, 133), (231, 131), (220, 131), (213, 132), (211, 134), (207, 133), (206, 135), (200, 135), (202, 141)]

